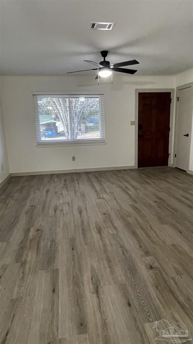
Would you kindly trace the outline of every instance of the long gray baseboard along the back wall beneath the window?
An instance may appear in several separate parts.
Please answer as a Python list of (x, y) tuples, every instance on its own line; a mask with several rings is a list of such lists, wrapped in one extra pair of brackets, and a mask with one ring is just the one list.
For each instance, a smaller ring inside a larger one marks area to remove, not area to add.
[(38, 175), (38, 174), (58, 174), (58, 173), (75, 173), (75, 172), (92, 172), (92, 171), (112, 171), (112, 170), (130, 170), (135, 166), (110, 166), (110, 167), (94, 167), (90, 169), (72, 169), (72, 170), (54, 170), (54, 171), (33, 171), (33, 172), (14, 172), (11, 177), (22, 175)]

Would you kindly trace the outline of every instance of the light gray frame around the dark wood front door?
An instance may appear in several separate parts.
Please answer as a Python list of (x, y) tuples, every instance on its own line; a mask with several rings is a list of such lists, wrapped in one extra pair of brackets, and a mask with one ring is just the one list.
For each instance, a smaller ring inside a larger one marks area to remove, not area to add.
[(138, 168), (138, 98), (139, 93), (171, 93), (171, 105), (170, 105), (170, 134), (169, 134), (169, 159), (168, 166), (173, 166), (173, 149), (174, 149), (174, 96), (175, 88), (136, 88), (135, 89), (135, 169)]

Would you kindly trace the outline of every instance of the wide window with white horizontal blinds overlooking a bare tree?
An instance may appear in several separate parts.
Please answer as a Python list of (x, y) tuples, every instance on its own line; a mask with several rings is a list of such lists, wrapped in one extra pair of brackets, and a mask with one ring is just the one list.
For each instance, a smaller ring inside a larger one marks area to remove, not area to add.
[(38, 145), (105, 142), (103, 94), (33, 94)]

